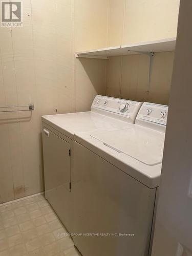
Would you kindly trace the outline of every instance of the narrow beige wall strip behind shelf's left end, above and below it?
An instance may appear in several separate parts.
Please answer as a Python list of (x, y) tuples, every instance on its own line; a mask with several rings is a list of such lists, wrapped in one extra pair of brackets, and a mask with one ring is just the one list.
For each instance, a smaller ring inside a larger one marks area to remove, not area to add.
[[(107, 46), (109, 0), (75, 1), (75, 51)], [(89, 111), (96, 94), (105, 93), (106, 60), (75, 59), (75, 111)]]

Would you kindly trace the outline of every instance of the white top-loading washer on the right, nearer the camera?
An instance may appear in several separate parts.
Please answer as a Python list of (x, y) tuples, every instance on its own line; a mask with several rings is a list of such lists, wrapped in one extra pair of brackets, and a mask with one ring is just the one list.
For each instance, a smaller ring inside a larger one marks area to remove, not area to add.
[(74, 244), (83, 256), (150, 253), (168, 107), (144, 102), (136, 124), (74, 136)]

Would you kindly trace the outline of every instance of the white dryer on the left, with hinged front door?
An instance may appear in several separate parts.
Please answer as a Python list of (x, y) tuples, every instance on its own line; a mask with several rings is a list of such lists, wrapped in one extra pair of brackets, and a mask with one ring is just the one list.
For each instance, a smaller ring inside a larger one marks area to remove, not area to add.
[(46, 198), (69, 232), (74, 224), (74, 134), (130, 127), (141, 104), (97, 95), (89, 112), (42, 116)]

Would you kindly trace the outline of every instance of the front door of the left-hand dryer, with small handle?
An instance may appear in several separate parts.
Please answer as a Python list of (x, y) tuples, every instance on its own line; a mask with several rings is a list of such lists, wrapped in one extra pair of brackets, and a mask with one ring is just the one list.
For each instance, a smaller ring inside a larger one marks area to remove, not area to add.
[[(70, 144), (45, 128), (42, 130), (46, 198), (63, 224), (70, 219)], [(66, 210), (68, 209), (68, 211)]]

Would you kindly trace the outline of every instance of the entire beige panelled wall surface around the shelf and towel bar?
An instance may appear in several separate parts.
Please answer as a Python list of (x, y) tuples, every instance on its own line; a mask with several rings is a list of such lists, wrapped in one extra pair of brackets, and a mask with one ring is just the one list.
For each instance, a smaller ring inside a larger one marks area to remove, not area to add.
[(41, 115), (87, 111), (105, 93), (167, 102), (173, 53), (156, 54), (151, 95), (145, 56), (74, 57), (77, 50), (175, 36), (179, 1), (151, 2), (148, 9), (141, 0), (25, 0), (24, 27), (0, 28), (0, 105), (35, 105), (31, 116), (0, 113), (0, 202), (44, 190)]

